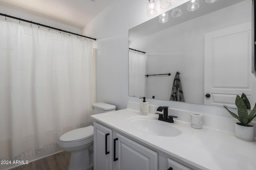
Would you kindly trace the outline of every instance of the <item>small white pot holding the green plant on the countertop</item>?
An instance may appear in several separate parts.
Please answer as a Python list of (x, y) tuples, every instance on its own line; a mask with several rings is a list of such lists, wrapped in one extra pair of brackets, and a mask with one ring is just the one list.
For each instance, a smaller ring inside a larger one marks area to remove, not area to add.
[(239, 122), (235, 124), (235, 135), (236, 138), (244, 140), (244, 141), (254, 141), (254, 127), (250, 126), (242, 126)]

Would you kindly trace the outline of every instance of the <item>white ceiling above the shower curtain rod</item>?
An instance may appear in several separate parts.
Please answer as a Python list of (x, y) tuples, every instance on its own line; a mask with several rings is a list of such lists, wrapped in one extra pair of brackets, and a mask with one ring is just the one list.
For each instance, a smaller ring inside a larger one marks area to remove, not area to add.
[(82, 28), (113, 0), (0, 0), (0, 4)]

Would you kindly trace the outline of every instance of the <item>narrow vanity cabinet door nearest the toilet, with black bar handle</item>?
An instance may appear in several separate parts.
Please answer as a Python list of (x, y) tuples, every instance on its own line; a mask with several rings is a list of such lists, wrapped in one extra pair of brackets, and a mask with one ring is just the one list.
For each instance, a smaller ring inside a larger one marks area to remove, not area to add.
[(94, 170), (112, 170), (112, 130), (94, 122)]

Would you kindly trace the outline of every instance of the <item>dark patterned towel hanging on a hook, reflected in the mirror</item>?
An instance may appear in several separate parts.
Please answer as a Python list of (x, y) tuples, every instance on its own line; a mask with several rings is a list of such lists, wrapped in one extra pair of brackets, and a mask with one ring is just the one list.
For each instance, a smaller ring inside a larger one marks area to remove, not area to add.
[(172, 93), (171, 93), (170, 100), (185, 102), (182, 87), (181, 87), (180, 73), (179, 72), (176, 72), (174, 80), (173, 80)]

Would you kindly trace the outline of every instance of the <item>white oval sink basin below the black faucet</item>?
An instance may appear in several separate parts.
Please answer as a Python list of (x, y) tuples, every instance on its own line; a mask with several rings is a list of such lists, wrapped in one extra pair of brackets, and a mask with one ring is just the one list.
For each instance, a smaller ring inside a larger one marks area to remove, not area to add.
[(149, 133), (152, 135), (164, 136), (164, 137), (176, 137), (180, 135), (192, 135), (193, 131), (190, 127), (174, 121), (174, 123), (168, 123), (160, 121), (155, 116), (138, 116), (128, 119), (127, 123), (133, 128)]

